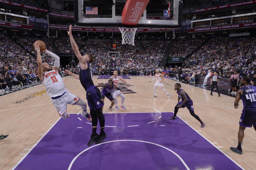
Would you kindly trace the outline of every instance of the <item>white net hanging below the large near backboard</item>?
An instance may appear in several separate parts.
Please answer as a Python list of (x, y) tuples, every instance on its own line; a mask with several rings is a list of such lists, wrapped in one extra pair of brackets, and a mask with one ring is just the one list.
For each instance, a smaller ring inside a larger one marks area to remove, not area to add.
[(119, 30), (122, 33), (122, 44), (132, 44), (134, 46), (134, 38), (137, 28), (120, 27)]

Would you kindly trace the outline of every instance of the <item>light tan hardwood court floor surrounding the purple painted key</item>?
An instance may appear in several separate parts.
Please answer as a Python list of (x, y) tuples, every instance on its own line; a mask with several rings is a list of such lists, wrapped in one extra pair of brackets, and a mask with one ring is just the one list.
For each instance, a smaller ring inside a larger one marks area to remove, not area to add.
[[(93, 76), (93, 81), (105, 83), (107, 79), (97, 79)], [(164, 88), (169, 92), (171, 98), (165, 95), (161, 89), (157, 89), (157, 97), (152, 98), (153, 85), (155, 82), (148, 81), (152, 79), (148, 76), (130, 76), (132, 79), (126, 79), (127, 83), (122, 87), (131, 90), (125, 90), (125, 106), (127, 110), (118, 112), (171, 112), (177, 104), (178, 95), (174, 91), (174, 84), (177, 81), (164, 80)], [(85, 91), (79, 80), (71, 76), (63, 78), (66, 88), (74, 95), (85, 100)], [(210, 91), (200, 89), (188, 84), (181, 83), (190, 98), (194, 102), (195, 113), (206, 124), (200, 128), (200, 123), (192, 116), (188, 110), (179, 109), (178, 116), (192, 126), (195, 130), (215, 143), (220, 150), (234, 159), (245, 169), (254, 169), (256, 149), (256, 135), (253, 128), (246, 128), (243, 141), (243, 154), (238, 155), (229, 150), (230, 146), (237, 145), (238, 122), (242, 111), (242, 102), (238, 109), (234, 109), (234, 98), (217, 93), (210, 96)], [(10, 136), (0, 141), (0, 164), (1, 169), (12, 169), (29, 152), (37, 141), (44, 135), (49, 128), (60, 118), (51, 98), (45, 93), (43, 84), (28, 89), (23, 89), (8, 95), (0, 97), (0, 133)], [(136, 92), (136, 93), (133, 93)], [(120, 108), (120, 100), (118, 106)], [(110, 101), (105, 99), (103, 113), (110, 112), (108, 106)], [(121, 109), (121, 108), (120, 108)], [(81, 110), (79, 106), (68, 105), (69, 113), (78, 113)], [(117, 112), (117, 111), (116, 111)], [(72, 116), (72, 115), (71, 115)], [(172, 115), (170, 115), (172, 116)], [(65, 121), (68, 121), (65, 120)], [(72, 134), (70, 134), (72, 135)]]

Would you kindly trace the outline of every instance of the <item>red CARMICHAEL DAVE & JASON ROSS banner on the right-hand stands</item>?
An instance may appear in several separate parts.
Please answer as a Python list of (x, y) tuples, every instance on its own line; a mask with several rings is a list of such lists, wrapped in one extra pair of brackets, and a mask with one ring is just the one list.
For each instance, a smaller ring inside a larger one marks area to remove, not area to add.
[(250, 23), (243, 23), (243, 24), (190, 28), (188, 29), (188, 32), (204, 32), (204, 31), (226, 30), (226, 29), (246, 28), (246, 27), (255, 27), (255, 26), (256, 26), (256, 22), (250, 22)]

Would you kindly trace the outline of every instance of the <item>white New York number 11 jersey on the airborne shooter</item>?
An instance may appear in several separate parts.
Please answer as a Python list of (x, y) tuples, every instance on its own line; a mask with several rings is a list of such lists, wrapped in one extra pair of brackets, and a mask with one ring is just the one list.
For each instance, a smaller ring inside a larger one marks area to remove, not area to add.
[(60, 96), (67, 91), (60, 74), (55, 70), (45, 72), (42, 83), (50, 97)]

